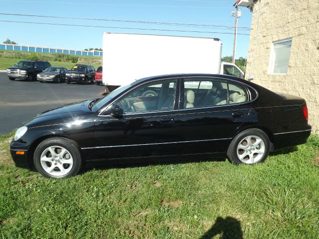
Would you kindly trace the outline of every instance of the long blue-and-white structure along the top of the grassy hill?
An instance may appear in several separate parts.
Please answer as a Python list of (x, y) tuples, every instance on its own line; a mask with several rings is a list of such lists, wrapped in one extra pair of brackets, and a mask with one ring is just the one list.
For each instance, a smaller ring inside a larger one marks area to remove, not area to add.
[(53, 48), (53, 47), (45, 47), (45, 46), (17, 45), (17, 44), (5, 44), (5, 43), (0, 43), (0, 50), (103, 56), (103, 51), (100, 51), (100, 50), (90, 50), (90, 51), (89, 50), (73, 50), (73, 49)]

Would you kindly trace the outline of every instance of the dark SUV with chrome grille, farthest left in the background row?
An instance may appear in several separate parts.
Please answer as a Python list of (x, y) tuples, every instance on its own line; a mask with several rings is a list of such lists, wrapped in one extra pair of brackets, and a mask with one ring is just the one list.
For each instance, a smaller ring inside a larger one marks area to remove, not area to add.
[(50, 67), (51, 64), (48, 61), (40, 60), (21, 60), (12, 67), (7, 68), (6, 74), (9, 80), (19, 79), (31, 81), (36, 79), (36, 75), (46, 68)]

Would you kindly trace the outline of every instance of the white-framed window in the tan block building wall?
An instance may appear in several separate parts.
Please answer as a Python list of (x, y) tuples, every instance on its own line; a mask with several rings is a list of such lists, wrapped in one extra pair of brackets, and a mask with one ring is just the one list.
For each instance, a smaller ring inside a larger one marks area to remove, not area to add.
[(287, 74), (292, 38), (273, 42), (269, 74)]

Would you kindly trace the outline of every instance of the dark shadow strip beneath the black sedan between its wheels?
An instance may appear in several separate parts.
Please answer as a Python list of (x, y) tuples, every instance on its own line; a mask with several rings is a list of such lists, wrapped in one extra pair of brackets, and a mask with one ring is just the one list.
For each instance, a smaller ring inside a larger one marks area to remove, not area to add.
[(226, 158), (189, 158), (189, 159), (145, 159), (145, 160), (125, 160), (121, 163), (119, 161), (113, 160), (102, 160), (97, 162), (87, 161), (86, 165), (82, 168), (79, 174), (84, 174), (93, 169), (95, 170), (107, 170), (107, 169), (125, 169), (125, 168), (138, 168), (146, 166), (157, 166), (157, 165), (175, 165), (175, 164), (187, 164), (187, 163), (200, 163), (200, 162), (223, 162)]

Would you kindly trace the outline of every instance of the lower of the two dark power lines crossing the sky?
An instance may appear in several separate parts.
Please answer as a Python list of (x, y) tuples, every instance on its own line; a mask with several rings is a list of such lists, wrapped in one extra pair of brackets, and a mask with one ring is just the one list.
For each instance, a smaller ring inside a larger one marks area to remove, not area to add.
[[(134, 27), (117, 27), (117, 26), (78, 25), (78, 24), (62, 24), (62, 23), (31, 22), (31, 21), (10, 21), (10, 20), (0, 20), (0, 22), (14, 22), (14, 23), (28, 23), (28, 24), (43, 24), (43, 25), (60, 25), (60, 26), (99, 27), (99, 28), (130, 29), (130, 30), (151, 30), (151, 31), (175, 31), (175, 32), (194, 32), (194, 33), (233, 34), (232, 32), (189, 31), (189, 30), (168, 30), (168, 29), (153, 29), (153, 28), (134, 28)], [(246, 34), (246, 33), (237, 33), (237, 34), (238, 34), (238, 35), (249, 35), (249, 34)]]

